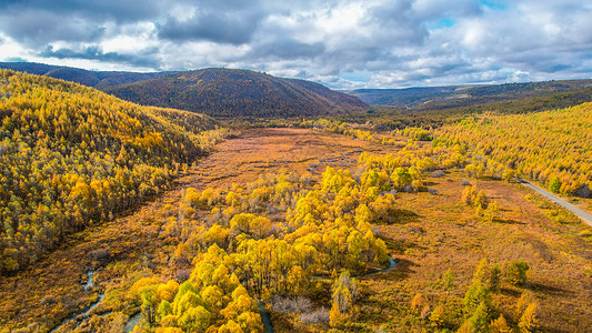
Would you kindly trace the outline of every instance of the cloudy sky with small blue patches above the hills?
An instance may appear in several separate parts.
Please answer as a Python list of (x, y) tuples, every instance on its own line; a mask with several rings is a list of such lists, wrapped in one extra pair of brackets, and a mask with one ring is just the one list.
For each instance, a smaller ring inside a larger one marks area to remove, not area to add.
[(0, 61), (333, 89), (592, 78), (590, 0), (2, 0)]

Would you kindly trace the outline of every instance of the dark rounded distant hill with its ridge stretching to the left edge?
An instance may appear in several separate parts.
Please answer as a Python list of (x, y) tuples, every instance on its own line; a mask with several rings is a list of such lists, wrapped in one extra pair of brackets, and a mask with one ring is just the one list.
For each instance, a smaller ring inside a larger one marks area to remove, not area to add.
[(368, 108), (359, 98), (319, 83), (249, 70), (96, 72), (31, 62), (0, 62), (0, 68), (77, 82), (144, 105), (220, 118), (344, 114)]

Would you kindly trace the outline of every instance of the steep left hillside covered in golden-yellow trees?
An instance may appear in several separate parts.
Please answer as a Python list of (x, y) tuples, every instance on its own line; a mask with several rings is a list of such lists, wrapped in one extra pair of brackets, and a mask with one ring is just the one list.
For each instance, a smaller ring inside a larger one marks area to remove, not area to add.
[(0, 98), (2, 273), (160, 193), (223, 134), (205, 115), (10, 70)]

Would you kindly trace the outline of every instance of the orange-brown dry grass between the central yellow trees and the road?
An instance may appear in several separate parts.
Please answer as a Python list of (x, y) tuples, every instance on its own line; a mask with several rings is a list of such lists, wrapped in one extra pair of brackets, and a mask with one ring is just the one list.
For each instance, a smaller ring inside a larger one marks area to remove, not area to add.
[[(397, 223), (379, 230), (401, 264), (389, 274), (363, 281), (367, 309), (352, 327), (385, 325), (399, 332), (429, 327), (411, 312), (413, 295), (423, 293), (432, 306), (462, 297), (479, 261), (486, 258), (502, 269), (519, 259), (531, 266), (525, 287), (504, 284), (502, 293), (494, 296), (494, 304), (508, 319), (512, 319), (520, 293), (532, 291), (539, 301), (542, 331), (591, 332), (589, 228), (519, 184), (480, 180), (479, 188), (501, 208), (500, 216), (485, 221), (460, 203), (462, 178), (462, 173), (453, 173), (430, 179), (438, 195), (400, 194), (398, 202), (404, 213)], [(455, 276), (450, 295), (439, 285), (449, 269)]]

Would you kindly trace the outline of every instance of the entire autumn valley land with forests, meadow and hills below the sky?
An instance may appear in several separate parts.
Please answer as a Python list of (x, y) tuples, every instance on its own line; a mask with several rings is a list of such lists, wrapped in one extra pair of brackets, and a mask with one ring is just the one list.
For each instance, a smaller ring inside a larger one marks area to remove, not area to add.
[(592, 330), (586, 80), (43, 73), (0, 70), (0, 332)]

